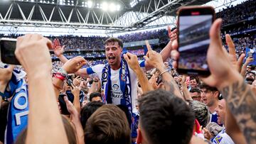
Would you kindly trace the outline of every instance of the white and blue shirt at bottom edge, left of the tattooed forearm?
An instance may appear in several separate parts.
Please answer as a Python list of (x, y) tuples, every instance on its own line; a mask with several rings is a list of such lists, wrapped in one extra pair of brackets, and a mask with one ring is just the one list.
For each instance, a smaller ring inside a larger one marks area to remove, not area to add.
[(223, 128), (223, 130), (213, 138), (212, 142), (215, 144), (235, 144), (230, 136), (225, 132), (225, 128)]

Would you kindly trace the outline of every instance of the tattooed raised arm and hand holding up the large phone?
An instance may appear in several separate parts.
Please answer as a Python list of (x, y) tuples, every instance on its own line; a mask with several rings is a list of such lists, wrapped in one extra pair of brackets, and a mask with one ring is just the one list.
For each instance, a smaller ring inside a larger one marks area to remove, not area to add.
[[(247, 143), (256, 143), (256, 96), (225, 54), (220, 38), (220, 26), (221, 19), (218, 18), (210, 28), (207, 62), (211, 74), (203, 81), (220, 90)], [(178, 52), (172, 52), (172, 56), (178, 59)], [(177, 63), (174, 62), (174, 65)]]

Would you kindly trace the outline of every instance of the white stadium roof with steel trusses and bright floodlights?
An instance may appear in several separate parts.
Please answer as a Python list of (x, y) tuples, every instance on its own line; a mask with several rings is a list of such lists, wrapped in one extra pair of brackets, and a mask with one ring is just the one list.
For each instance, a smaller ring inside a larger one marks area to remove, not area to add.
[[(110, 33), (174, 23), (180, 6), (210, 0), (0, 0), (0, 26), (104, 29)], [(235, 1), (235, 0), (222, 0)], [(159, 19), (162, 19), (160, 22)]]

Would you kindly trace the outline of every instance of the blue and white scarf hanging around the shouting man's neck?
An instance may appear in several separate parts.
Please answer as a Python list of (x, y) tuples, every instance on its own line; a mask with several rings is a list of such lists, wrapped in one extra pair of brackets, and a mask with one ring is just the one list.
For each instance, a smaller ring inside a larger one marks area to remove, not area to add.
[[(111, 82), (111, 68), (107, 63), (102, 70), (102, 101), (103, 103), (112, 104), (112, 82)], [(127, 106), (130, 115), (132, 115), (132, 87), (129, 75), (129, 68), (125, 60), (121, 60), (121, 69), (119, 70), (120, 89), (122, 91), (121, 105)]]

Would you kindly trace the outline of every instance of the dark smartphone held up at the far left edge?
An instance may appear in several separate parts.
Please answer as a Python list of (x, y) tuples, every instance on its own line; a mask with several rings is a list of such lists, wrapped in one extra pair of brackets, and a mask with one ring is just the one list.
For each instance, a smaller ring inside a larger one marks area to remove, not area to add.
[(21, 65), (14, 54), (16, 50), (16, 41), (15, 38), (0, 39), (1, 62), (12, 65)]

